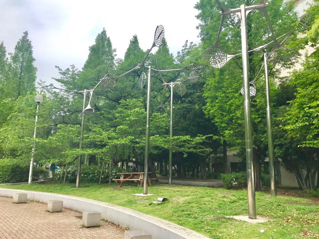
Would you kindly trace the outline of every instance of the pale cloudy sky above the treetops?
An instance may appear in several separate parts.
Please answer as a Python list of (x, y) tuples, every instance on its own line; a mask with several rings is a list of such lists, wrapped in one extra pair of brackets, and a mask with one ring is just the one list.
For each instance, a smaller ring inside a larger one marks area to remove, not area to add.
[[(28, 31), (38, 79), (48, 83), (58, 77), (55, 66), (78, 69), (88, 47), (105, 27), (117, 57), (123, 58), (137, 34), (143, 50), (152, 45), (157, 25), (165, 28), (170, 51), (176, 55), (185, 40), (198, 43), (194, 9), (197, 0), (0, 0), (0, 41), (7, 52)], [(154, 51), (154, 49), (153, 49)]]

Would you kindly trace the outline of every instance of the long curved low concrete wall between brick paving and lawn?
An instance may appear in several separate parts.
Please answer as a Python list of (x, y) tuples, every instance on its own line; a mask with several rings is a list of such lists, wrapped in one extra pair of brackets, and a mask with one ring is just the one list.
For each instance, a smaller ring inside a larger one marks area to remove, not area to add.
[(99, 211), (102, 218), (116, 225), (128, 227), (130, 230), (147, 231), (152, 235), (152, 239), (209, 239), (172, 222), (109, 203), (56, 193), (0, 188), (0, 196), (13, 197), (14, 193), (27, 193), (28, 200), (38, 202), (47, 203), (48, 200), (62, 200), (64, 207), (79, 212)]

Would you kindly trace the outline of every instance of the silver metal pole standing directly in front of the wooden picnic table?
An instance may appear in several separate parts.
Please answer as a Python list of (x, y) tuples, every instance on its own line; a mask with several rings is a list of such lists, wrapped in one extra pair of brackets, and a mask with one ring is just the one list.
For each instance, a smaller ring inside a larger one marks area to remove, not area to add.
[(147, 194), (148, 151), (149, 151), (149, 148), (150, 148), (151, 74), (152, 74), (152, 68), (151, 68), (151, 66), (149, 66), (148, 67), (148, 79), (147, 79), (147, 105), (146, 105), (146, 131), (145, 131), (145, 156), (144, 156), (143, 194)]

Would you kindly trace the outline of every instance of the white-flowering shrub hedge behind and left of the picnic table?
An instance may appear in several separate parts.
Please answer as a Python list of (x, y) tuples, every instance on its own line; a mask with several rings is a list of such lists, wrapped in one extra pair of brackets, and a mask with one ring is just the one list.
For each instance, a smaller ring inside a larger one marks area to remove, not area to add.
[[(70, 183), (75, 183), (77, 178), (77, 165), (68, 166), (66, 170), (66, 181)], [(63, 169), (59, 169), (55, 171), (55, 179), (60, 180), (61, 174)], [(127, 172), (127, 170), (119, 168), (119, 167), (112, 167), (111, 169), (111, 179), (120, 178), (118, 173), (120, 172)], [(81, 167), (81, 180), (88, 182), (88, 183), (98, 183), (100, 181), (100, 173), (101, 167), (98, 165), (83, 165)], [(63, 176), (64, 177), (64, 172)], [(105, 166), (103, 168), (102, 180), (101, 183), (108, 183), (109, 182), (109, 167)]]

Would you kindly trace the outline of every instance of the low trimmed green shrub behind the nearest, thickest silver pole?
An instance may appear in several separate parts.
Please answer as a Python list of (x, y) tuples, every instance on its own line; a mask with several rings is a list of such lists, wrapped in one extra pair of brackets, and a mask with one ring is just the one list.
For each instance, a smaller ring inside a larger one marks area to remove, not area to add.
[[(246, 172), (222, 174), (221, 179), (223, 181), (224, 187), (227, 189), (247, 187), (247, 173)], [(264, 173), (261, 174), (261, 183), (263, 186), (270, 185), (269, 174), (264, 174)]]

